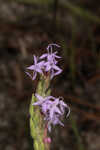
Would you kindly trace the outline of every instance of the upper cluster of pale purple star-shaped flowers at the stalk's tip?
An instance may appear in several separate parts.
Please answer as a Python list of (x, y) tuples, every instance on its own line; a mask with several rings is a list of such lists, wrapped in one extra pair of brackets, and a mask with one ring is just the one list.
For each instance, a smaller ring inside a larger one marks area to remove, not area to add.
[(52, 79), (54, 76), (62, 72), (62, 69), (57, 66), (58, 61), (56, 60), (56, 58), (61, 57), (56, 55), (57, 52), (52, 52), (52, 46), (59, 47), (57, 44), (49, 44), (47, 47), (47, 53), (43, 54), (39, 58), (34, 55), (34, 65), (27, 67), (28, 70), (33, 71), (33, 75), (31, 76), (30, 73), (26, 72), (32, 80), (36, 79), (37, 73), (43, 75), (48, 72)]

